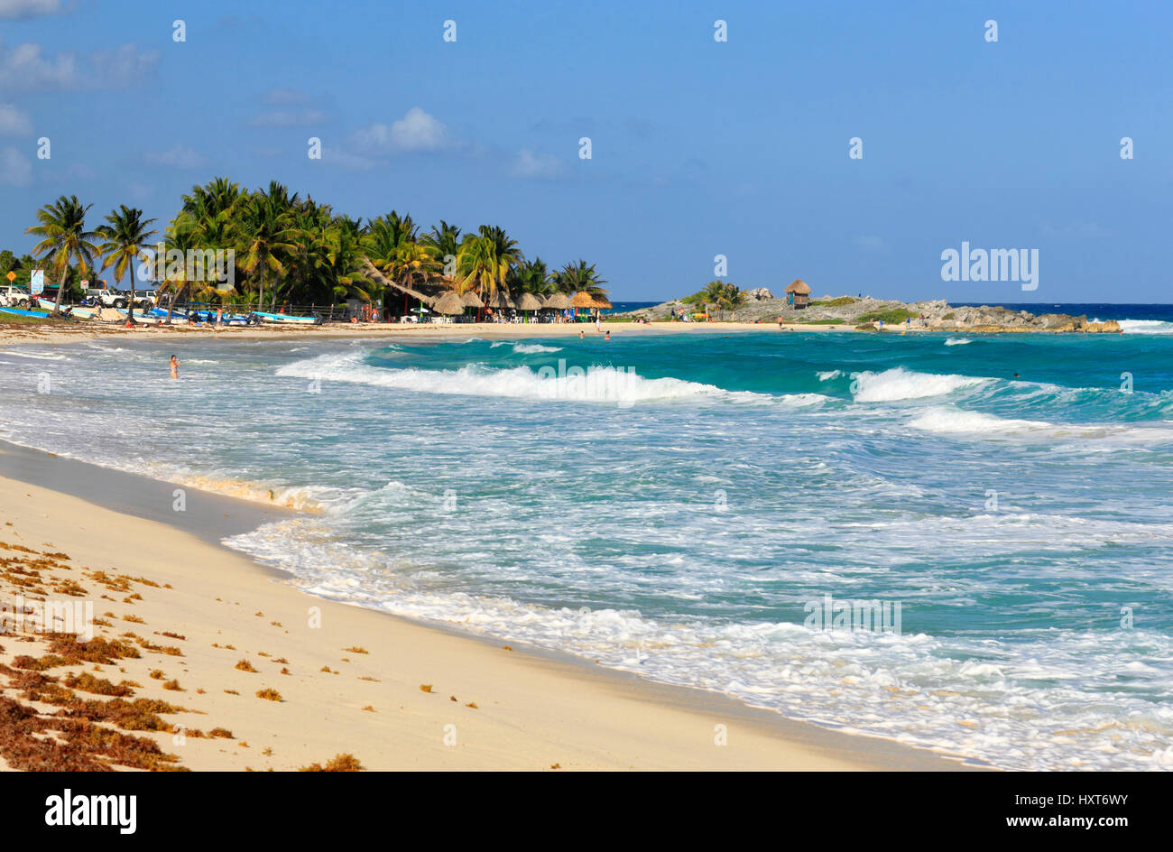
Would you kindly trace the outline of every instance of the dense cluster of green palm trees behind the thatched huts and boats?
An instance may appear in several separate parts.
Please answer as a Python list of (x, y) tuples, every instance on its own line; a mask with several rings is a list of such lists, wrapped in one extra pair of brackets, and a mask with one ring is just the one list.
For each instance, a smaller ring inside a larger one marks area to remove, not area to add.
[(104, 224), (86, 230), (90, 207), (76, 196), (62, 196), (39, 210), (38, 224), (26, 231), (41, 238), (33, 250), (36, 268), (47, 270), (48, 279), (59, 286), (55, 312), (62, 292), (75, 290), (95, 269), (113, 268), (120, 282), (129, 278), (133, 290), (136, 264), (149, 264), (158, 243), (165, 250), (232, 250), (235, 255), (230, 290), (217, 289), (224, 285), (210, 272), (205, 279), (188, 280), (179, 273), (160, 280), (163, 264), (156, 261), (154, 278), (161, 292), (258, 310), (395, 296), (385, 292), (387, 282), (380, 285), (380, 276), (367, 275), (371, 266), (400, 286), (441, 285), (459, 293), (472, 291), (482, 299), (502, 291), (510, 297), (523, 292), (606, 295), (606, 282), (594, 264), (579, 259), (550, 270), (541, 258), (527, 259), (502, 228), (481, 225), (465, 232), (441, 219), (425, 231), (409, 215), (395, 210), (364, 223), (335, 214), (328, 204), (290, 194), (276, 181), (251, 192), (226, 177), (195, 185), (160, 234), (149, 229), (155, 219), (143, 219), (142, 210), (124, 204), (107, 215)]

